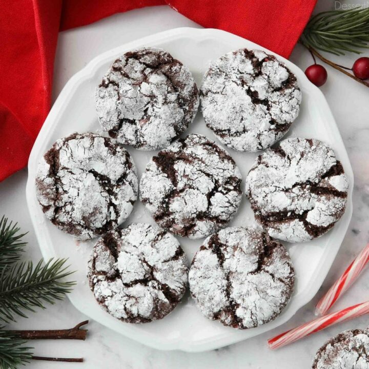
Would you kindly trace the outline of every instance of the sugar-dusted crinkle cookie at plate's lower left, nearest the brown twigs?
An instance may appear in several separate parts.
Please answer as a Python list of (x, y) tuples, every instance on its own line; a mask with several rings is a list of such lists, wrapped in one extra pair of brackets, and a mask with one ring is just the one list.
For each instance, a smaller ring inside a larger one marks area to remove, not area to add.
[(179, 242), (150, 224), (107, 233), (95, 244), (88, 265), (96, 300), (125, 322), (162, 319), (186, 291), (187, 259)]

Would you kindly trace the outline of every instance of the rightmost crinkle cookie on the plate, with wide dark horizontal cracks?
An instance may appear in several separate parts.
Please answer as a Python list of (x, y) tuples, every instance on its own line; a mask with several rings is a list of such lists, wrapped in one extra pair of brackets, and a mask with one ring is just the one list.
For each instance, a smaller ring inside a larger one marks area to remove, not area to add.
[(259, 155), (246, 178), (255, 219), (271, 237), (309, 241), (344, 213), (348, 181), (334, 151), (317, 139), (288, 138)]

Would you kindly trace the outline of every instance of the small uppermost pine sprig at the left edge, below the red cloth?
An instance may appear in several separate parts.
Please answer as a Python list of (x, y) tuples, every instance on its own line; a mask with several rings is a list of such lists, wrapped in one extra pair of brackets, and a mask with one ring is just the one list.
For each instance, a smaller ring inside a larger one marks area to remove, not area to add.
[(20, 253), (24, 251), (27, 242), (22, 242), (21, 238), (26, 233), (19, 234), (19, 230), (17, 223), (11, 221), (8, 224), (8, 219), (3, 215), (0, 220), (0, 273), (18, 261)]

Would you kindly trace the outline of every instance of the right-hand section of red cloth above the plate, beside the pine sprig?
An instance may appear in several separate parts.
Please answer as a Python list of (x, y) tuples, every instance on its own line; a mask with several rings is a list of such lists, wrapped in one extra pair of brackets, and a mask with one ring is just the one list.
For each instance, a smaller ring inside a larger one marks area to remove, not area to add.
[(168, 0), (179, 13), (289, 57), (316, 0)]

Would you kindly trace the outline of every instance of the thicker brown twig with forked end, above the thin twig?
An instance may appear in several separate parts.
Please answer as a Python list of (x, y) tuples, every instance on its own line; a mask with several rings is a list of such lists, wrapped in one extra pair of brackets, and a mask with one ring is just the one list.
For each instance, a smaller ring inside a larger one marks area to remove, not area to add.
[[(67, 330), (47, 330), (47, 331), (6, 331), (10, 335), (22, 339), (77, 339), (85, 340), (87, 330), (79, 329), (89, 321), (85, 320), (71, 329)], [(39, 359), (42, 360), (42, 359)]]

